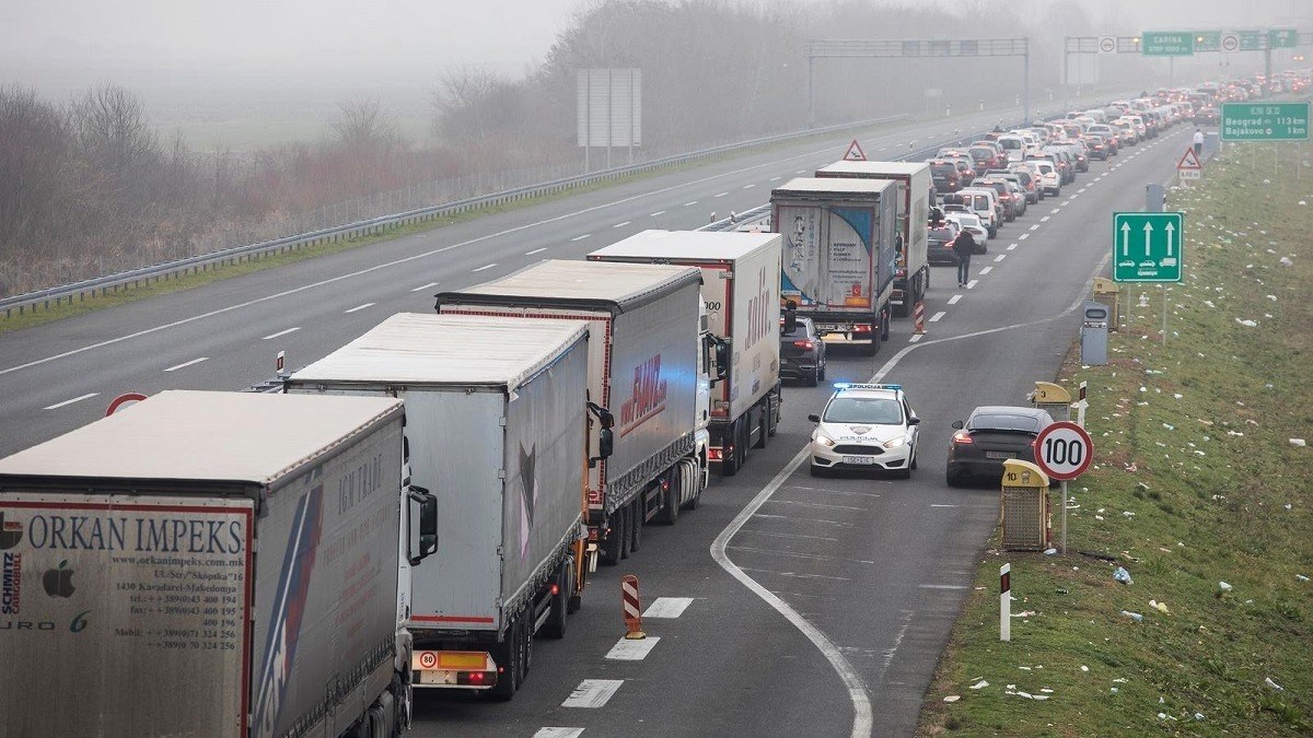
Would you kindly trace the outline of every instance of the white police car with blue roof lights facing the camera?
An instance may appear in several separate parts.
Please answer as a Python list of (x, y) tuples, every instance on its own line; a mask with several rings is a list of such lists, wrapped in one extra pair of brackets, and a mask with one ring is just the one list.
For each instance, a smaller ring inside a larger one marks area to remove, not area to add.
[(811, 475), (831, 469), (881, 469), (903, 479), (916, 469), (920, 418), (902, 385), (836, 383), (811, 432)]

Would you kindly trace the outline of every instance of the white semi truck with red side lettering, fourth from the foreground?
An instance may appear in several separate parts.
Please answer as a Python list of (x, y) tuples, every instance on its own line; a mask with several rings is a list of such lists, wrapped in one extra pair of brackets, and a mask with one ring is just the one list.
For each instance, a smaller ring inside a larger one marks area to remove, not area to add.
[(726, 477), (747, 461), (750, 446), (765, 448), (780, 424), (780, 244), (779, 234), (650, 230), (588, 255), (701, 269), (710, 332), (726, 347), (709, 424), (710, 462)]

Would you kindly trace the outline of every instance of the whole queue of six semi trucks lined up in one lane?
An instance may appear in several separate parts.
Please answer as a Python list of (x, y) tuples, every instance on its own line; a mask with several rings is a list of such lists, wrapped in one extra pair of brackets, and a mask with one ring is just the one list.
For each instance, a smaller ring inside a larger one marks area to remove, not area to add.
[(777, 188), (779, 234), (540, 261), (277, 394), (0, 460), (0, 734), (399, 735), (415, 689), (513, 697), (588, 575), (775, 436), (781, 326), (873, 353), (924, 294), (928, 169), (869, 164)]

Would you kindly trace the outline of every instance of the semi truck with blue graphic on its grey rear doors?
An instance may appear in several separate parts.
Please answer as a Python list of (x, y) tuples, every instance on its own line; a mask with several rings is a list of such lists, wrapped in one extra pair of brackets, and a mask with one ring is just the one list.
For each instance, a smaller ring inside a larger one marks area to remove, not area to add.
[(796, 177), (771, 190), (784, 238), (780, 297), (827, 343), (873, 355), (889, 337), (895, 219), (890, 180)]

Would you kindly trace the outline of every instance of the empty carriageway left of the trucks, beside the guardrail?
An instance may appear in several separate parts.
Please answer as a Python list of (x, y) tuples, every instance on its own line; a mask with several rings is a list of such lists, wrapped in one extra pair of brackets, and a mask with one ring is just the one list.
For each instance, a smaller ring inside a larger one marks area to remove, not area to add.
[[(863, 135), (871, 156), (987, 127), (999, 113)], [(781, 147), (492, 214), (291, 267), (0, 336), (0, 454), (100, 416), (123, 391), (242, 389), (273, 356), (305, 365), (429, 295), (649, 227), (689, 228), (764, 202), (772, 181), (842, 155), (850, 135)]]

